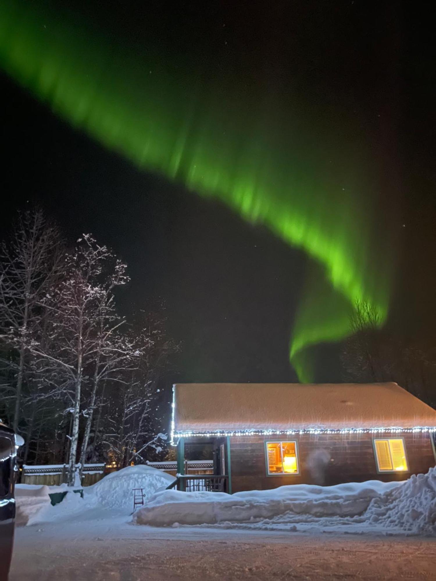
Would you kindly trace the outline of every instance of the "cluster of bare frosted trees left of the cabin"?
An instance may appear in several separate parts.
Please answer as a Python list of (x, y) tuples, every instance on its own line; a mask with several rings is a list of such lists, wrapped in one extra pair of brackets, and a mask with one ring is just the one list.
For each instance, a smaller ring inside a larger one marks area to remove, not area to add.
[(0, 418), (24, 437), (24, 462), (66, 462), (70, 485), (76, 462), (126, 466), (166, 437), (158, 394), (178, 347), (163, 309), (117, 312), (128, 280), (110, 249), (89, 234), (68, 248), (39, 209), (1, 247)]

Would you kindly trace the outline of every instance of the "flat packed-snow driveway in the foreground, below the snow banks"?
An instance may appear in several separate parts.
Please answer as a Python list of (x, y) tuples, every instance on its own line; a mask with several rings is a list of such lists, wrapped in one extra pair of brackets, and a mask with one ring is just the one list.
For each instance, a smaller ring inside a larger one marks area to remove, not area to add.
[(158, 529), (119, 514), (88, 517), (17, 528), (9, 581), (435, 579), (430, 537)]

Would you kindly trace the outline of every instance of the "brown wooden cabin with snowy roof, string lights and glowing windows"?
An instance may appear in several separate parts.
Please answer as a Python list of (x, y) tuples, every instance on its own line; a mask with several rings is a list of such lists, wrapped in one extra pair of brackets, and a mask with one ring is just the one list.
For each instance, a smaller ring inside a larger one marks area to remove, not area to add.
[[(178, 383), (173, 443), (181, 490), (265, 490), (403, 480), (435, 465), (436, 411), (396, 383)], [(192, 444), (213, 475), (184, 475)]]

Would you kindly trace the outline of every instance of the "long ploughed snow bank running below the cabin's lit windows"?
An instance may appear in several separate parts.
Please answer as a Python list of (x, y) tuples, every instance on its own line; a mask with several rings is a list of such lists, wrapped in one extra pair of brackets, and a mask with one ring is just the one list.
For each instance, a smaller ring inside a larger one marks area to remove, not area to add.
[(134, 515), (140, 525), (250, 525), (295, 530), (296, 525), (360, 532), (436, 534), (436, 468), (404, 482), (369, 480), (337, 486), (291, 485), (228, 496), (166, 490)]

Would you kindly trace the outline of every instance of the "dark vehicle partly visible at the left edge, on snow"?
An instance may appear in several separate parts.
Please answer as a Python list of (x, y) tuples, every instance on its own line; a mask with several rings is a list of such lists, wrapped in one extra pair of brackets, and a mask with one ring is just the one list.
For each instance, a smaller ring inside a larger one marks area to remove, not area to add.
[(15, 525), (15, 433), (0, 424), (0, 579), (9, 575)]

